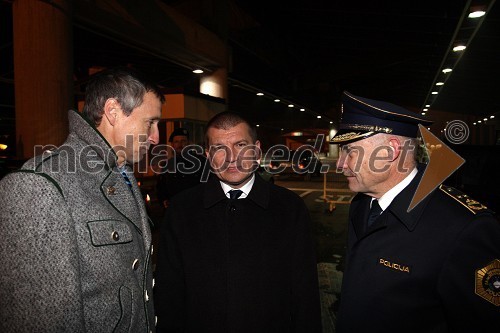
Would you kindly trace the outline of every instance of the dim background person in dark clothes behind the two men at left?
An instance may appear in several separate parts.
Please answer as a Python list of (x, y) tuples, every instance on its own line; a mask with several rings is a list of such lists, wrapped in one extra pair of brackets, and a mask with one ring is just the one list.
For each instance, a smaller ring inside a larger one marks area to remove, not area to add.
[(176, 128), (168, 141), (174, 155), (167, 160), (156, 184), (158, 200), (165, 208), (174, 195), (200, 183), (207, 161), (189, 145), (187, 129)]

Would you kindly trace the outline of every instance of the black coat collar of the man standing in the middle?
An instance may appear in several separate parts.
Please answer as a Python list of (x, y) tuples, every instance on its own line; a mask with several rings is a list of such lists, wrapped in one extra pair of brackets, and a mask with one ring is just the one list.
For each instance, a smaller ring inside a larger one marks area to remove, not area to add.
[[(255, 181), (252, 189), (248, 196), (242, 200), (251, 200), (266, 209), (269, 206), (270, 184), (266, 183), (258, 173), (254, 174)], [(222, 186), (220, 186), (219, 178), (211, 174), (204, 186), (203, 207), (210, 208), (222, 200), (227, 200), (227, 197), (222, 190)]]

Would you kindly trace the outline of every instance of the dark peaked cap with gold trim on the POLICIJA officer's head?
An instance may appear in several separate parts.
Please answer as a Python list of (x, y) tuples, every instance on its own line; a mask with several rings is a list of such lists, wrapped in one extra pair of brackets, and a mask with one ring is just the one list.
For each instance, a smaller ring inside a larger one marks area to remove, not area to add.
[[(418, 124), (427, 126), (431, 123), (417, 113), (400, 106), (355, 96), (345, 91), (342, 94), (342, 119), (339, 131), (330, 143), (354, 142), (377, 133), (415, 138), (418, 134)], [(357, 135), (346, 135), (353, 132)]]

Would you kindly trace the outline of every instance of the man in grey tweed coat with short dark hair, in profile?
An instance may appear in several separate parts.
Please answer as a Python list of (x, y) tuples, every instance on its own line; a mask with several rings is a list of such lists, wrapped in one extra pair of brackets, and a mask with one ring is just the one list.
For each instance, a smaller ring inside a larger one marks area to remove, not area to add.
[(155, 331), (151, 232), (130, 166), (164, 97), (127, 69), (91, 78), (58, 149), (0, 182), (0, 332)]

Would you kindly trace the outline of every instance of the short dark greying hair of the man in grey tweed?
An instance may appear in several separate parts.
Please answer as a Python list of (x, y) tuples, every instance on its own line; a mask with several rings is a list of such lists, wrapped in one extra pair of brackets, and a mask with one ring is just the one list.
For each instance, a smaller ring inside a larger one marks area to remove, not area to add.
[(104, 104), (109, 98), (115, 98), (123, 113), (129, 116), (143, 102), (144, 95), (152, 92), (161, 103), (165, 102), (160, 88), (145, 79), (143, 75), (130, 68), (105, 69), (91, 76), (85, 89), (83, 114), (95, 126), (99, 126), (104, 114)]

